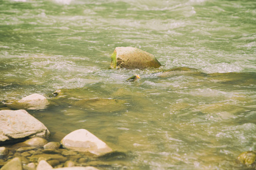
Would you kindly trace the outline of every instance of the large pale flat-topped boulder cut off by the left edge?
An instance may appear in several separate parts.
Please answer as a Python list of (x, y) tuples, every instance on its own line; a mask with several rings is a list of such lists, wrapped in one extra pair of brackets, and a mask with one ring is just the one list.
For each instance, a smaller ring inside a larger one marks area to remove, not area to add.
[(23, 141), (24, 138), (49, 137), (49, 130), (27, 111), (0, 111), (0, 144)]

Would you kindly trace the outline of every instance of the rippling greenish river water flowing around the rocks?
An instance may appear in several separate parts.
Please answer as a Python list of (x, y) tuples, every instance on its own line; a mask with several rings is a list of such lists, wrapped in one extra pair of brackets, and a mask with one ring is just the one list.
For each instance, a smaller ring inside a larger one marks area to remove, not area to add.
[[(2, 106), (42, 94), (52, 104), (28, 112), (49, 141), (84, 128), (129, 153), (100, 169), (243, 169), (237, 156), (256, 150), (255, 9), (228, 0), (0, 0)], [(163, 66), (109, 69), (117, 46)], [(175, 67), (205, 74), (152, 74)], [(134, 74), (141, 79), (124, 81)], [(58, 89), (68, 95), (49, 97)]]

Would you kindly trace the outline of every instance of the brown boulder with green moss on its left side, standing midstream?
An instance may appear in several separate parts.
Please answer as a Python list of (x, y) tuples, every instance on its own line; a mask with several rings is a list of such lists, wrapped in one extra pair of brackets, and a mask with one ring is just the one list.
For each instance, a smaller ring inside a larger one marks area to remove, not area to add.
[(150, 53), (141, 49), (127, 47), (117, 47), (111, 56), (111, 67), (126, 69), (149, 69), (158, 68), (161, 64)]

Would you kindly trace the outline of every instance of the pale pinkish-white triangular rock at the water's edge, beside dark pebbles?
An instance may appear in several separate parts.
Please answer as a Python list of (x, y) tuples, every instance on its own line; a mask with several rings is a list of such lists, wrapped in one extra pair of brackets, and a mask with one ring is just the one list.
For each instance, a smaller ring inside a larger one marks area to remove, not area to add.
[(113, 151), (105, 142), (86, 129), (72, 131), (60, 143), (65, 148), (80, 152), (90, 152), (94, 155), (103, 155)]

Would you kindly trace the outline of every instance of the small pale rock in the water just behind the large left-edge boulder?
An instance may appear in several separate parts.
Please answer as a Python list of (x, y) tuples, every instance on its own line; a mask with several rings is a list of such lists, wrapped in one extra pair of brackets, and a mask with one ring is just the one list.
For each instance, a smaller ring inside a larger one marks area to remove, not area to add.
[(32, 94), (18, 101), (19, 104), (26, 105), (27, 109), (45, 109), (49, 104), (46, 97), (39, 94)]

